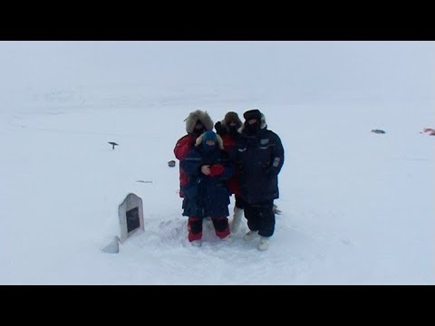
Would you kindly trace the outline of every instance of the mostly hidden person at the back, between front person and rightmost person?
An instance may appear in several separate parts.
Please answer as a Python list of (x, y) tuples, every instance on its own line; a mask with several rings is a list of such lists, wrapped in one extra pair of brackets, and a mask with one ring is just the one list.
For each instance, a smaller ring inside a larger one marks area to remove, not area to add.
[[(233, 111), (227, 112), (224, 120), (218, 121), (215, 124), (216, 133), (221, 137), (224, 143), (224, 149), (231, 149), (235, 145), (239, 135), (237, 129), (241, 126), (242, 121), (238, 118), (237, 112)], [(243, 209), (245, 207), (243, 199), (239, 196), (240, 187), (238, 185), (237, 174), (233, 175), (233, 177), (228, 180), (227, 187), (235, 197), (234, 214), (230, 226), (231, 232), (236, 233), (242, 222)]]

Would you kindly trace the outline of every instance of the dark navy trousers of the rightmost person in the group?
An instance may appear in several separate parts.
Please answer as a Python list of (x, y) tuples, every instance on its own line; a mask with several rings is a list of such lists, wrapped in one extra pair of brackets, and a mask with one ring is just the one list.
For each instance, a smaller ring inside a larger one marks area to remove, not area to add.
[(274, 201), (248, 204), (245, 202), (245, 217), (247, 227), (251, 231), (258, 231), (258, 235), (272, 236), (275, 231)]

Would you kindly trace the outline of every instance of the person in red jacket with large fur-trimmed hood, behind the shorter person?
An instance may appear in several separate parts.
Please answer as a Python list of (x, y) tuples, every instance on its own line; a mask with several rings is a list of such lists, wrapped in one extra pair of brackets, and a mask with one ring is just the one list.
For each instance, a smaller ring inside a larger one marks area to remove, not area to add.
[[(211, 120), (207, 111), (194, 110), (186, 118), (187, 135), (177, 140), (174, 148), (174, 155), (181, 161), (186, 157), (189, 150), (195, 146), (195, 141), (205, 131), (213, 129), (213, 120)], [(189, 182), (188, 175), (179, 167), (179, 197), (184, 198), (183, 187)]]

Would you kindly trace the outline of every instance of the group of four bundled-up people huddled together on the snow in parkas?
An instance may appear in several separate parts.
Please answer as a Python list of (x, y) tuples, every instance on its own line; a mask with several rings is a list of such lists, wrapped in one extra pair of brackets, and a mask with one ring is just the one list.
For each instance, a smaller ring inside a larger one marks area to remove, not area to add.
[[(189, 242), (201, 245), (202, 222), (210, 217), (216, 235), (231, 240), (243, 215), (249, 241), (259, 235), (257, 248), (267, 250), (275, 231), (274, 200), (279, 197), (278, 174), (284, 164), (281, 139), (267, 129), (265, 115), (247, 110), (244, 122), (229, 111), (213, 125), (207, 111), (195, 110), (186, 119), (187, 135), (174, 149), (179, 159), (179, 196), (188, 216)], [(213, 127), (216, 132), (213, 131)], [(234, 215), (228, 223), (231, 194)]]

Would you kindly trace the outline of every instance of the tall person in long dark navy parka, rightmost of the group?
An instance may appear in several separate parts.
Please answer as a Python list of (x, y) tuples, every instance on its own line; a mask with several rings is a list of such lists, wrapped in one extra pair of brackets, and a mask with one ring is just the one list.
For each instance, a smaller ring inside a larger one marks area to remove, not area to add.
[(269, 237), (275, 232), (274, 200), (279, 197), (278, 174), (284, 164), (281, 139), (267, 129), (266, 118), (259, 110), (247, 110), (240, 136), (231, 149), (236, 162), (240, 196), (245, 202), (245, 217), (249, 232), (246, 240), (260, 235), (258, 249), (269, 247)]

